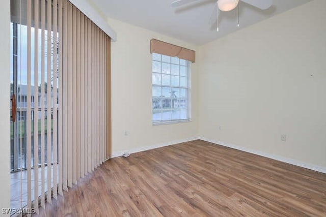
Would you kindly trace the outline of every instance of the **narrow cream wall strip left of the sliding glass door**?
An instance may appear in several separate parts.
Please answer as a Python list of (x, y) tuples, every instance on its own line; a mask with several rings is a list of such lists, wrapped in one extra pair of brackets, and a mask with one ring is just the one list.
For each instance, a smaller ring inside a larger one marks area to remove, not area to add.
[(10, 208), (10, 1), (0, 7), (0, 215)]

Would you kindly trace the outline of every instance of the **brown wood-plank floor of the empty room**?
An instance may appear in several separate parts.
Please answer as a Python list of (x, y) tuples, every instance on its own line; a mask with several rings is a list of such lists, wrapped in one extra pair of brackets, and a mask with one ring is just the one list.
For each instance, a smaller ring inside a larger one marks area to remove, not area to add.
[(41, 216), (326, 216), (326, 174), (196, 140), (114, 158)]

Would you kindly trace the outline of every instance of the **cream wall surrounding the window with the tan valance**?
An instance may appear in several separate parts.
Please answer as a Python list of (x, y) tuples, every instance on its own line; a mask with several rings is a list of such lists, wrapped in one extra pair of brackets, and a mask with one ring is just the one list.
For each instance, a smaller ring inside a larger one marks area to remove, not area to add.
[[(142, 149), (198, 136), (198, 70), (192, 64), (192, 121), (152, 126), (152, 38), (197, 50), (197, 47), (144, 28), (109, 19), (117, 33), (112, 42), (112, 152)], [(128, 136), (124, 136), (124, 132)]]

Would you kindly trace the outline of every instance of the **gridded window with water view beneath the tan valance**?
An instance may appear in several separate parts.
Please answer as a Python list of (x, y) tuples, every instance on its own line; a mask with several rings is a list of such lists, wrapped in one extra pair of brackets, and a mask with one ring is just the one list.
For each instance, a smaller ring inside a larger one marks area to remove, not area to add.
[(188, 60), (152, 53), (153, 124), (190, 119), (190, 66)]

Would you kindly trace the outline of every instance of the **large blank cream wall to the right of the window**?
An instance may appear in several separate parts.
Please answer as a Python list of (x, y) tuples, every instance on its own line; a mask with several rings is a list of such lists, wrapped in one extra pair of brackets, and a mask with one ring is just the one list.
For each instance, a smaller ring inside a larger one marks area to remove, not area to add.
[(315, 0), (201, 46), (199, 135), (325, 169), (325, 10)]

